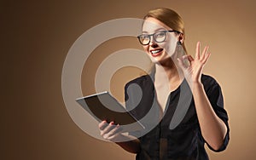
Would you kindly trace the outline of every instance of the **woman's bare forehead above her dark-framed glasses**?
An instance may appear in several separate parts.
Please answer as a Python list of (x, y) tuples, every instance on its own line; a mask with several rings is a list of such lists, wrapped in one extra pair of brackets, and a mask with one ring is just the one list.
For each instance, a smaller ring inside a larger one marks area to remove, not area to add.
[(154, 33), (158, 30), (172, 30), (169, 26), (166, 26), (160, 20), (156, 20), (152, 17), (148, 17), (143, 23), (143, 32)]

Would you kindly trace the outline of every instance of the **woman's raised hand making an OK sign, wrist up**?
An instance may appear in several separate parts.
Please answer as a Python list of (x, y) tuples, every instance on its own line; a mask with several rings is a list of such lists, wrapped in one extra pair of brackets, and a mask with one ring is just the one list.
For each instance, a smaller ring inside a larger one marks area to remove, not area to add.
[[(183, 57), (177, 59), (179, 66), (183, 70), (184, 77), (189, 83), (190, 89), (193, 89), (193, 84), (201, 83), (202, 69), (210, 56), (208, 49), (209, 47), (206, 46), (201, 53), (201, 44), (198, 42), (195, 49), (195, 59), (191, 55), (183, 55)], [(189, 66), (185, 65), (185, 60), (189, 60)]]

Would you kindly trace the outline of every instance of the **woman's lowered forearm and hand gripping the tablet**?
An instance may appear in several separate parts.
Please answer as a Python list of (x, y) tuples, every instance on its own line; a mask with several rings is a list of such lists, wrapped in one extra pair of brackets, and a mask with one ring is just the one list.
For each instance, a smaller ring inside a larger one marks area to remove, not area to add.
[(125, 149), (125, 151), (131, 153), (140, 151), (140, 141), (131, 135), (122, 134), (119, 125), (114, 125), (113, 122), (108, 124), (106, 121), (102, 121), (102, 123), (99, 124), (99, 129), (105, 140), (115, 142)]

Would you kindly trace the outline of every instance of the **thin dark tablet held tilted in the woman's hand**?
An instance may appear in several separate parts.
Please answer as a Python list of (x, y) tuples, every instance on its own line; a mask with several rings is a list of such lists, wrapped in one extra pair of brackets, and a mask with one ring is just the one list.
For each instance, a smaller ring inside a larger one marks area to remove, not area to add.
[(108, 123), (119, 124), (124, 132), (144, 129), (136, 117), (122, 106), (108, 91), (91, 94), (76, 99), (80, 106), (88, 111), (98, 122), (106, 120)]

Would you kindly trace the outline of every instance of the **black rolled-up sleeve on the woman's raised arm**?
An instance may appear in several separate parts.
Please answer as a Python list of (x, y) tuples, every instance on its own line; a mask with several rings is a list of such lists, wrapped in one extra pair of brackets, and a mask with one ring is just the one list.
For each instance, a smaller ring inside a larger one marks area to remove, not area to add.
[(224, 137), (224, 142), (223, 145), (218, 149), (214, 150), (212, 149), (211, 146), (207, 144), (207, 146), (212, 150), (212, 151), (224, 151), (226, 147), (228, 146), (228, 143), (230, 141), (230, 127), (229, 127), (229, 117), (227, 111), (224, 109), (224, 98), (223, 94), (221, 91), (220, 86), (218, 83), (214, 83), (210, 89), (207, 90), (207, 97), (210, 100), (210, 103), (212, 105), (213, 110), (217, 114), (217, 116), (223, 120), (227, 127), (227, 134)]

